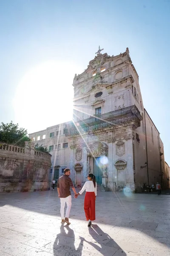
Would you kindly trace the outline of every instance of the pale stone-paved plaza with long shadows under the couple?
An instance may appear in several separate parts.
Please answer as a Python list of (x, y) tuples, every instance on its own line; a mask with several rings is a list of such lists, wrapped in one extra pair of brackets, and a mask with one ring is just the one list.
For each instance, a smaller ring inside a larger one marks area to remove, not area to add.
[(98, 192), (87, 227), (85, 193), (60, 224), (57, 189), (0, 194), (0, 256), (170, 256), (170, 196)]

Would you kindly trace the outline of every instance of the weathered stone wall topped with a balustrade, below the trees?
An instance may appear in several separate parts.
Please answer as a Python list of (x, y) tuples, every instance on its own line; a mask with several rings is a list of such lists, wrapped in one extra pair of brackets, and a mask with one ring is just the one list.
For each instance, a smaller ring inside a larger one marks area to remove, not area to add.
[(0, 193), (50, 189), (51, 154), (0, 143)]

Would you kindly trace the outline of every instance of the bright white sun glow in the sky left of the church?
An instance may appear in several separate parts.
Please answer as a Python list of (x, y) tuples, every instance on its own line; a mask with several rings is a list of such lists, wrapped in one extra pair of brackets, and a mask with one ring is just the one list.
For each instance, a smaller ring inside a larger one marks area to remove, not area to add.
[(68, 61), (46, 61), (29, 70), (14, 95), (15, 122), (29, 133), (72, 119), (74, 74), (82, 68)]

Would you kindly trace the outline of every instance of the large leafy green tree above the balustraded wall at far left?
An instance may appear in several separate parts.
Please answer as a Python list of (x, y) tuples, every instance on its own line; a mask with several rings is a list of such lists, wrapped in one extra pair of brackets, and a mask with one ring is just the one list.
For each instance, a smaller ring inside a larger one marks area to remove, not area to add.
[(12, 121), (7, 124), (1, 122), (0, 142), (24, 147), (25, 141), (31, 142), (26, 129), (18, 128), (18, 124), (15, 125)]

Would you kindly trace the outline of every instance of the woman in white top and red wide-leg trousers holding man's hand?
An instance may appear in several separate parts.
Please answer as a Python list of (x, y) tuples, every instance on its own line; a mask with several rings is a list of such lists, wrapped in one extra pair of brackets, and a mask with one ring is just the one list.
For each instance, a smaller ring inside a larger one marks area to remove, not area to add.
[(82, 192), (84, 191), (86, 191), (84, 202), (85, 217), (88, 221), (88, 227), (90, 227), (91, 221), (94, 221), (96, 218), (95, 200), (97, 195), (96, 177), (92, 173), (88, 175), (88, 181), (85, 182), (80, 192), (75, 195), (75, 198), (77, 198), (79, 195), (82, 195)]

